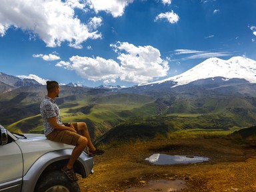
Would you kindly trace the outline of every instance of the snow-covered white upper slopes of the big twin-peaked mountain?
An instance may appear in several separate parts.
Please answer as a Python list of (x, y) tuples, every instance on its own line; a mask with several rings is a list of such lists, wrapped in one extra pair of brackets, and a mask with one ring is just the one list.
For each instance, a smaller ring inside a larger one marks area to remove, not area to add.
[(173, 81), (177, 82), (175, 86), (179, 86), (195, 80), (217, 76), (223, 77), (223, 80), (241, 78), (251, 83), (256, 83), (256, 61), (244, 56), (234, 56), (229, 60), (216, 57), (209, 58), (182, 74), (149, 84), (161, 84), (163, 82)]

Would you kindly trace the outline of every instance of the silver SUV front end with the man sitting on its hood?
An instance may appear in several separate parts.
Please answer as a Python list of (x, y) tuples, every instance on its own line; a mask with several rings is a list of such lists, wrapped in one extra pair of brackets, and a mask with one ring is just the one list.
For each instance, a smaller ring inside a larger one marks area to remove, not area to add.
[[(61, 172), (72, 145), (51, 142), (42, 134), (12, 134), (0, 125), (1, 192), (78, 192), (77, 182)], [(83, 178), (93, 173), (93, 157), (83, 152), (74, 165)]]

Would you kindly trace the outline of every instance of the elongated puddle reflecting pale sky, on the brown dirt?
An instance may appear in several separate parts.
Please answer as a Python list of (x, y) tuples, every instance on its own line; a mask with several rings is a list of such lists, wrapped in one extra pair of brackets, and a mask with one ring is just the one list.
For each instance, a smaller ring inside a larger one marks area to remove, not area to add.
[(166, 155), (163, 153), (155, 153), (145, 160), (155, 165), (173, 165), (179, 163), (201, 163), (203, 161), (209, 161), (209, 158), (191, 155)]

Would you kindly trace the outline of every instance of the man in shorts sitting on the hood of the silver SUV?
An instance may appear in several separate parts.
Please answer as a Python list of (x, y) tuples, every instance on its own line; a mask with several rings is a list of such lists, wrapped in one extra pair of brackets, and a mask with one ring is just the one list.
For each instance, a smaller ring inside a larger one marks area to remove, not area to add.
[[(71, 181), (77, 181), (77, 176), (73, 171), (73, 164), (81, 155), (85, 147), (89, 147), (89, 155), (102, 155), (103, 150), (96, 149), (91, 142), (85, 122), (63, 124), (61, 122), (60, 110), (55, 103), (55, 98), (59, 97), (60, 87), (56, 81), (47, 81), (47, 96), (41, 102), (40, 111), (43, 118), (45, 136), (48, 140), (75, 145), (71, 157), (65, 167), (61, 169)], [(81, 132), (77, 134), (77, 132)]]

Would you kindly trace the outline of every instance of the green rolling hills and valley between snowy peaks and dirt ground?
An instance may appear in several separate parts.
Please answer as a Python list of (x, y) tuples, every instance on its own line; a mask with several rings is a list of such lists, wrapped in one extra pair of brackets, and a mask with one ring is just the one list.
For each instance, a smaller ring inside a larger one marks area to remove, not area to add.
[[(191, 130), (229, 132), (256, 124), (253, 97), (182, 91), (165, 92), (161, 97), (160, 92), (135, 94), (61, 86), (61, 96), (56, 101), (63, 122), (86, 122), (91, 136), (102, 136), (102, 142), (109, 142), (110, 138), (168, 138), (173, 133), (192, 134)], [(0, 94), (0, 123), (13, 132), (43, 133), (39, 106), (44, 96), (44, 86)]]

